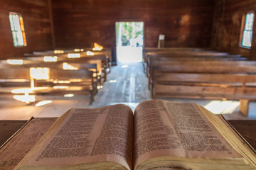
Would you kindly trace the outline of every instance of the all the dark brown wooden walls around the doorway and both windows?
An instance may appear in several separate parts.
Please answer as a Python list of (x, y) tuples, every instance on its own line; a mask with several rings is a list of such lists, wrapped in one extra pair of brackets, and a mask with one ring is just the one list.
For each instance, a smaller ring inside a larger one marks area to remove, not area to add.
[[(239, 46), (242, 14), (255, 8), (255, 0), (0, 0), (0, 58), (55, 44), (92, 47), (98, 42), (114, 52), (115, 22), (143, 21), (145, 47), (156, 47), (164, 34), (166, 47), (214, 47), (256, 60), (256, 30), (251, 50)], [(23, 16), (26, 47), (14, 47), (9, 12)]]

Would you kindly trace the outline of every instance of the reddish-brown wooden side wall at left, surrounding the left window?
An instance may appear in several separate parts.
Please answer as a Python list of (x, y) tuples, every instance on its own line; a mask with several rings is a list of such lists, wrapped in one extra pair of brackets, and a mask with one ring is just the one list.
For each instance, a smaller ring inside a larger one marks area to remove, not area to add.
[[(49, 2), (48, 0), (0, 0), (0, 59), (53, 48)], [(14, 47), (9, 12), (21, 13), (23, 17), (26, 47)]]

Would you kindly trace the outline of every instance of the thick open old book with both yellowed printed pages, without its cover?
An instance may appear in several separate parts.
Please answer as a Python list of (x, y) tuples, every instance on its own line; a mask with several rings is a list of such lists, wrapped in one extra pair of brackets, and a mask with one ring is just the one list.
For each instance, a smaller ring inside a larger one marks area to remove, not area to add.
[(16, 169), (256, 169), (222, 117), (196, 103), (72, 108)]

